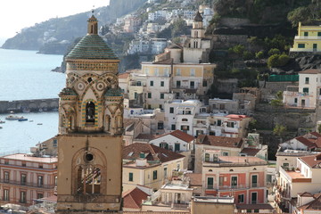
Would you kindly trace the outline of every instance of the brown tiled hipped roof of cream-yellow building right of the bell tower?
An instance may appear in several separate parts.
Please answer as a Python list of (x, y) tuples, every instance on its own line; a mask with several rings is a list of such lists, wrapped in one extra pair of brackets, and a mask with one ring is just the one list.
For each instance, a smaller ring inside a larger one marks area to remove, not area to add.
[(177, 152), (171, 152), (153, 144), (135, 143), (125, 146), (122, 152), (122, 158), (127, 160), (139, 159), (140, 153), (145, 154), (147, 161), (173, 161), (185, 156)]

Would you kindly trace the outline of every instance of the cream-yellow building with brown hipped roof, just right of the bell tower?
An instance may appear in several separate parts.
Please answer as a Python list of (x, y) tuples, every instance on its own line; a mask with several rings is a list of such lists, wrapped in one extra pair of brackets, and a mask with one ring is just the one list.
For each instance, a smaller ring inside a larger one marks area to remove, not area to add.
[(185, 156), (156, 145), (135, 143), (123, 148), (123, 191), (144, 185), (158, 190), (172, 171), (182, 169)]

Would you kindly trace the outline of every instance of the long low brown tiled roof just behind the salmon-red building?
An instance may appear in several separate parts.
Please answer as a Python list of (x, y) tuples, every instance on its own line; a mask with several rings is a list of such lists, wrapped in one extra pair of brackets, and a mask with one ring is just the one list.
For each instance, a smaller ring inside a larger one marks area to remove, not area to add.
[(241, 148), (243, 139), (241, 137), (227, 137), (227, 136), (198, 136), (196, 144), (208, 144), (223, 147)]

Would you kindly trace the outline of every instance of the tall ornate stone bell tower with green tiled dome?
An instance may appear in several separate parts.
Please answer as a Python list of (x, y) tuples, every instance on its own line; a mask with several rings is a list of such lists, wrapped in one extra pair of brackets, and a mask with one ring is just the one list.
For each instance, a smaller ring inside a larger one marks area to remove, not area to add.
[(59, 94), (57, 213), (121, 210), (123, 95), (119, 59), (98, 36), (94, 14), (87, 34), (66, 56)]

